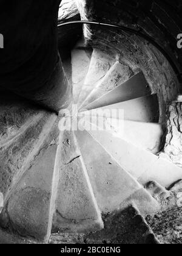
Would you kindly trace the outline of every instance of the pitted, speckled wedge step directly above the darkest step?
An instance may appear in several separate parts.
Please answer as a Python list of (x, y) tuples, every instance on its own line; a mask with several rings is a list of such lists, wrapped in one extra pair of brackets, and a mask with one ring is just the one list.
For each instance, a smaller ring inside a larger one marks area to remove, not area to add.
[(129, 66), (124, 65), (120, 62), (115, 62), (114, 65), (109, 69), (106, 76), (96, 85), (92, 93), (86, 98), (80, 108), (89, 105), (91, 102), (100, 98), (104, 94), (112, 91), (118, 85), (123, 84), (133, 75), (132, 70)]

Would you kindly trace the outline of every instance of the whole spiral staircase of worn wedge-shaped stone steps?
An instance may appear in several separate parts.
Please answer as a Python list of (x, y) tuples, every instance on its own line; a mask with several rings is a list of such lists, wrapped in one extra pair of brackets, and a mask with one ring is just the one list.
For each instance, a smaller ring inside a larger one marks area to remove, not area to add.
[[(19, 239), (102, 232), (104, 216), (131, 205), (143, 216), (158, 212), (160, 200), (147, 183), (167, 191), (182, 177), (158, 154), (164, 137), (158, 96), (141, 70), (129, 73), (81, 41), (72, 50), (72, 85), (76, 110), (69, 116), (1, 94), (0, 225)], [(102, 113), (110, 129), (95, 123)], [(78, 129), (60, 130), (67, 118)]]

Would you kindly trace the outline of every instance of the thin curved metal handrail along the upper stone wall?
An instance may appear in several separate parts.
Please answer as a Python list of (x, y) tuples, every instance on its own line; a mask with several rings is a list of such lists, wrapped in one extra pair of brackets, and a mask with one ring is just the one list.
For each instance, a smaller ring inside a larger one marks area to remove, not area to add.
[(170, 57), (170, 55), (164, 50), (164, 48), (162, 46), (160, 46), (160, 44), (158, 44), (155, 40), (153, 40), (152, 37), (150, 37), (149, 35), (143, 34), (141, 29), (137, 30), (137, 29), (132, 29), (130, 27), (126, 27), (126, 26), (119, 26), (119, 25), (115, 25), (115, 24), (111, 24), (111, 23), (100, 23), (97, 21), (67, 21), (67, 22), (63, 21), (61, 24), (58, 24), (58, 27), (69, 26), (72, 24), (92, 24), (92, 25), (98, 25), (98, 26), (104, 26), (104, 27), (112, 27), (115, 29), (123, 30), (124, 32), (129, 32), (129, 33), (138, 35), (139, 37), (142, 37), (146, 41), (149, 41), (149, 43), (153, 44), (153, 46), (155, 46), (169, 61), (170, 65), (174, 69), (178, 78), (181, 79), (181, 77), (182, 77), (182, 73), (180, 72), (180, 69), (178, 68), (178, 66), (172, 60), (172, 57)]

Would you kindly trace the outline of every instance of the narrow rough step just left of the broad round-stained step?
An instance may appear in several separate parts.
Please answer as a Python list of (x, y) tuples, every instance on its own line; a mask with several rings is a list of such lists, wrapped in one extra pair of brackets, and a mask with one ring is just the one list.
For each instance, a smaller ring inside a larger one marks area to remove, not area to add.
[(32, 116), (32, 125), (27, 127), (11, 143), (7, 143), (0, 148), (0, 188), (5, 201), (12, 193), (12, 189), (19, 178), (32, 165), (35, 156), (44, 144), (45, 138), (49, 136), (56, 119), (55, 114), (44, 111), (42, 111), (39, 119), (36, 119), (35, 116), (34, 120)]

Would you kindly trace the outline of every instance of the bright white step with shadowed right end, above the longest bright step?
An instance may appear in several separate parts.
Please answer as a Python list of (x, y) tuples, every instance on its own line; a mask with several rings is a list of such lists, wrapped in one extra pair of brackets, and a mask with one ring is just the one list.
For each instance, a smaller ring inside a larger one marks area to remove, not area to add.
[(115, 118), (102, 118), (99, 122), (97, 118), (95, 120), (93, 118), (90, 124), (98, 126), (99, 130), (110, 131), (113, 137), (121, 138), (136, 148), (146, 149), (153, 154), (157, 154), (161, 150), (164, 133), (161, 124), (123, 121)]

